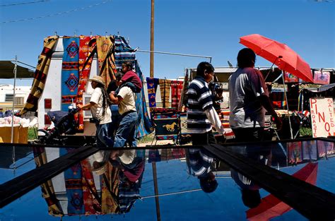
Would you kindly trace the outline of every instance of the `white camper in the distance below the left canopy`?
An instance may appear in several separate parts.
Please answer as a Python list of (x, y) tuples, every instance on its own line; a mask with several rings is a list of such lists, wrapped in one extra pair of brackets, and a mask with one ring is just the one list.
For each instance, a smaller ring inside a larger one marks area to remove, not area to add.
[(13, 93), (14, 86), (0, 84), (0, 112), (6, 112), (8, 109), (22, 109), (30, 93), (30, 86), (16, 86), (15, 97)]

